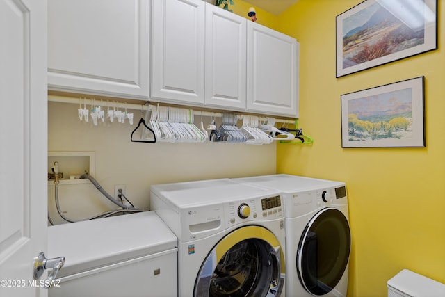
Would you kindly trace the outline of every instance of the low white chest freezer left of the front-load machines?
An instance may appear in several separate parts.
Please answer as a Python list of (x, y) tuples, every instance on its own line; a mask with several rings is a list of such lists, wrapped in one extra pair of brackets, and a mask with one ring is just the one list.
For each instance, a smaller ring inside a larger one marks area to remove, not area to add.
[(49, 297), (172, 297), (177, 237), (154, 211), (48, 227), (48, 258), (65, 257)]

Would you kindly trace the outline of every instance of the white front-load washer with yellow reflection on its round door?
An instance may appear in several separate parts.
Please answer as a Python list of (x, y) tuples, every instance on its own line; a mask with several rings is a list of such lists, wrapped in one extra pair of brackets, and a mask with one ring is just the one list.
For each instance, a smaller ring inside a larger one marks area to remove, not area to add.
[(178, 237), (178, 294), (284, 296), (284, 209), (275, 190), (231, 179), (150, 187)]

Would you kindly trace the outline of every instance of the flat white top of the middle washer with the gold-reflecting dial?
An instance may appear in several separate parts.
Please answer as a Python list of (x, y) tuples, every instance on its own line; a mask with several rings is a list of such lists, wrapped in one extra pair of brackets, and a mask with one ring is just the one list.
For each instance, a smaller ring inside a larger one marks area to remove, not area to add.
[(241, 184), (232, 179), (157, 184), (152, 185), (150, 190), (179, 208), (245, 201), (280, 194), (277, 190), (253, 184)]

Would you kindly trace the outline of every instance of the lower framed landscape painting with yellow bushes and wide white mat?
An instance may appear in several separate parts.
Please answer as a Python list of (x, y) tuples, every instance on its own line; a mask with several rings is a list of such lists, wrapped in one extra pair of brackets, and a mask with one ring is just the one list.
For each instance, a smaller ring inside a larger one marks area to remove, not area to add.
[(341, 147), (425, 147), (423, 79), (341, 95)]

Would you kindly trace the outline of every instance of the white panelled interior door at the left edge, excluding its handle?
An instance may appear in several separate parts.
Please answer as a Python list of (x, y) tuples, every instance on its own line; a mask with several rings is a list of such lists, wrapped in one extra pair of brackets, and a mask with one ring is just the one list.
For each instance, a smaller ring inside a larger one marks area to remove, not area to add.
[(47, 296), (47, 1), (0, 0), (0, 296)]

